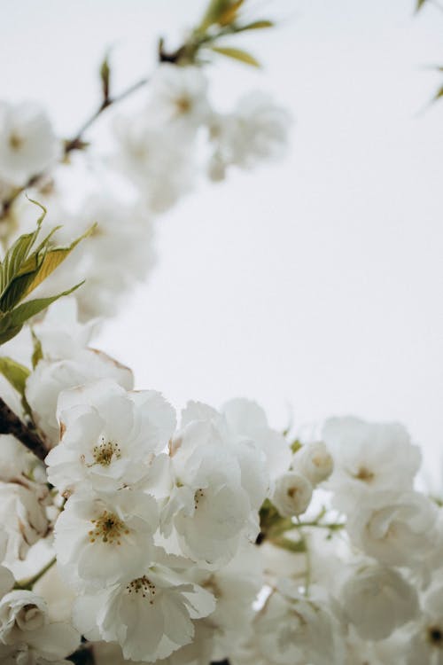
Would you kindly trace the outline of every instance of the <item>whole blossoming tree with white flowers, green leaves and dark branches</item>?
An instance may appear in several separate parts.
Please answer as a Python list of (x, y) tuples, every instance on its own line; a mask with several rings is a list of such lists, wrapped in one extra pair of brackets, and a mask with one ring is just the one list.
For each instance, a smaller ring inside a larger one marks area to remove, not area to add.
[[(245, 5), (212, 0), (127, 90), (105, 59), (102, 102), (65, 141), (40, 107), (0, 106), (5, 665), (443, 663), (439, 502), (403, 426), (281, 433), (244, 399), (177, 415), (91, 346), (195, 176), (284, 153), (290, 118), (266, 95), (209, 101), (208, 53), (256, 65), (225, 40), (272, 26)], [(113, 153), (91, 151), (102, 113), (143, 88)]]

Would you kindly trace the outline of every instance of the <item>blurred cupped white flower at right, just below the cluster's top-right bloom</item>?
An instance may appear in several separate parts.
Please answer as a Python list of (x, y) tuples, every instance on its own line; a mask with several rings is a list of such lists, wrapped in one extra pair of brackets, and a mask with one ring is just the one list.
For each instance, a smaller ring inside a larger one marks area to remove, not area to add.
[(346, 528), (354, 545), (388, 566), (414, 567), (432, 548), (437, 510), (417, 492), (377, 492), (354, 506)]

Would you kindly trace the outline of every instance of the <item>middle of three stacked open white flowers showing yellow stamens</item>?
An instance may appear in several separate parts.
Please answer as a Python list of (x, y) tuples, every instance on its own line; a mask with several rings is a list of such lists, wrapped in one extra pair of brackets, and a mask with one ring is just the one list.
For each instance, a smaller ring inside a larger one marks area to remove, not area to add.
[(142, 492), (125, 488), (108, 496), (74, 494), (55, 526), (61, 574), (83, 588), (136, 576), (152, 560), (158, 523), (156, 501)]

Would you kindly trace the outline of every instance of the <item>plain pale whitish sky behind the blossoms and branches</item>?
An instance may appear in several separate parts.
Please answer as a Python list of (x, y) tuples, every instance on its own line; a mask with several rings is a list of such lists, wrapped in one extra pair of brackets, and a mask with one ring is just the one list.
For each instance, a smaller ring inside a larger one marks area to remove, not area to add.
[[(200, 0), (2, 0), (2, 98), (36, 98), (64, 135), (152, 62)], [(231, 106), (271, 91), (296, 123), (283, 164), (201, 184), (159, 223), (159, 262), (97, 346), (180, 407), (249, 396), (285, 426), (331, 414), (405, 422), (443, 443), (443, 12), (412, 0), (271, 0), (247, 40), (263, 72), (214, 68)], [(243, 42), (245, 45), (245, 42)], [(100, 129), (98, 129), (100, 131)], [(436, 465), (438, 466), (438, 465)]]

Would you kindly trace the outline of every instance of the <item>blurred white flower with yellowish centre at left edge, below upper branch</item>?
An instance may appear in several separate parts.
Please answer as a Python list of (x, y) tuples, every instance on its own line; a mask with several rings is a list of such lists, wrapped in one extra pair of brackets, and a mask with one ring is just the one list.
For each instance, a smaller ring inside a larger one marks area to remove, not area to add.
[(0, 178), (20, 187), (58, 159), (60, 145), (46, 113), (30, 102), (0, 104)]

